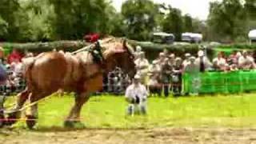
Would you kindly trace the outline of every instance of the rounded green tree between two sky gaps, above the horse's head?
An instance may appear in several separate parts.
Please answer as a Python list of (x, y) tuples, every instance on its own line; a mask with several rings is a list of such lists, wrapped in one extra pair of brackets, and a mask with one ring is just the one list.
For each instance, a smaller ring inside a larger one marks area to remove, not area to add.
[(135, 40), (148, 40), (157, 26), (158, 6), (151, 0), (127, 0), (122, 5), (126, 36)]

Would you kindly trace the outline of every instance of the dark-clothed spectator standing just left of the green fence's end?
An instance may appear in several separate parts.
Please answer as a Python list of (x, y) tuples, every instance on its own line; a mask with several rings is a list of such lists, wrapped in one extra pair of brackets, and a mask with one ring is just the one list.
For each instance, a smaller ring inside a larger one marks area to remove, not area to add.
[(182, 93), (182, 58), (175, 58), (171, 85), (174, 97), (180, 96)]

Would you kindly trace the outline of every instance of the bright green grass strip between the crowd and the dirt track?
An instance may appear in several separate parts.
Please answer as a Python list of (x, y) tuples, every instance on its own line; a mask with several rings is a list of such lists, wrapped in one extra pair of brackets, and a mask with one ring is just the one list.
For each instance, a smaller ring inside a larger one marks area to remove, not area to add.
[[(51, 97), (40, 102), (38, 128), (62, 126), (73, 103), (73, 96)], [(126, 116), (126, 106), (123, 97), (92, 97), (82, 109), (82, 122), (89, 128), (124, 129), (256, 126), (256, 94), (149, 98), (146, 116)], [(21, 126), (25, 122), (15, 125)]]

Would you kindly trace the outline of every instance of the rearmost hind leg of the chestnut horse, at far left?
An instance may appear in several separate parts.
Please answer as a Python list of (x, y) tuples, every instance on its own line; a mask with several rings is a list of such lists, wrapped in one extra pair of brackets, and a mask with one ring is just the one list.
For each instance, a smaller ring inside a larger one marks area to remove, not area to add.
[(8, 118), (6, 118), (6, 122), (5, 122), (6, 125), (13, 125), (15, 122), (17, 122), (19, 118), (21, 118), (22, 112), (20, 109), (26, 102), (27, 98), (29, 98), (29, 96), (30, 96), (30, 92), (27, 89), (22, 91), (22, 93), (18, 94), (18, 100), (17, 100), (16, 106), (14, 107), (12, 112), (8, 114)]

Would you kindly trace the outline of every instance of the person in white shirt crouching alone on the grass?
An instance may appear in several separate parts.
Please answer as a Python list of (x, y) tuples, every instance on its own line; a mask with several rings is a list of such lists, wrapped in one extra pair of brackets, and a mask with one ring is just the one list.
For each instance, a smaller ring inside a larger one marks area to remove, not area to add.
[(146, 86), (143, 86), (140, 82), (140, 76), (136, 74), (134, 76), (134, 82), (126, 89), (126, 102), (129, 102), (128, 114), (133, 115), (134, 112), (146, 114), (146, 98), (148, 92)]

